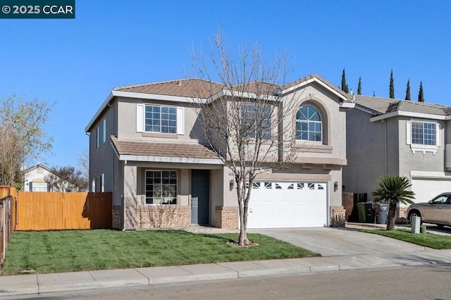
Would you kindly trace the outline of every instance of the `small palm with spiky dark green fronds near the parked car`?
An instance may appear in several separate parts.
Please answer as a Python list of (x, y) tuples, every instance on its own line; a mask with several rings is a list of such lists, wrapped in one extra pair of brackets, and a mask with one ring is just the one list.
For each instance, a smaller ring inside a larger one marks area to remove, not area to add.
[(384, 175), (379, 178), (378, 185), (379, 187), (371, 193), (373, 203), (388, 204), (387, 230), (394, 230), (397, 204), (413, 203), (414, 192), (407, 190), (411, 184), (406, 177)]

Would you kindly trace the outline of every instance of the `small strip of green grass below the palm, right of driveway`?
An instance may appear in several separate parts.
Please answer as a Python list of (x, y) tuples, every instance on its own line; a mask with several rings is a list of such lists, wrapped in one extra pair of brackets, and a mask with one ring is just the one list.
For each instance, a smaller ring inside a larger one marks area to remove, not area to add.
[(404, 242), (430, 247), (433, 249), (451, 249), (451, 237), (446, 235), (433, 235), (432, 233), (414, 234), (407, 230), (362, 230), (384, 237), (393, 237)]

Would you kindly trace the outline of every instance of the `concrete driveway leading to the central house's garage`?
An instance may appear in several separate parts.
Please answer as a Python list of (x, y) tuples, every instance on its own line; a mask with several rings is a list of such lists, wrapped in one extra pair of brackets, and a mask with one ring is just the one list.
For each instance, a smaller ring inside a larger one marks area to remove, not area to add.
[(429, 249), (350, 228), (276, 228), (252, 229), (248, 232), (274, 237), (322, 256), (390, 254)]

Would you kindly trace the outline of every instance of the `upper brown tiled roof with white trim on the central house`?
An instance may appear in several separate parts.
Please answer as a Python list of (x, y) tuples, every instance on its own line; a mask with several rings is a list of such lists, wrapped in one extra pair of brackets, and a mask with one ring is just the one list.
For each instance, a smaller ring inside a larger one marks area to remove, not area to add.
[(326, 87), (326, 89), (330, 90), (330, 92), (332, 92), (333, 94), (336, 94), (343, 102), (350, 102), (348, 101), (348, 94), (343, 92), (338, 87), (335, 87), (335, 85), (332, 85), (330, 82), (317, 74), (299, 78), (298, 80), (295, 80), (294, 82), (290, 82), (287, 85), (283, 86), (268, 82), (254, 81), (249, 82), (246, 87), (235, 86), (228, 88), (225, 85), (221, 85), (217, 82), (211, 82), (208, 80), (196, 78), (168, 80), (142, 85), (129, 85), (114, 88), (106, 98), (104, 103), (100, 106), (99, 110), (97, 110), (97, 113), (94, 114), (93, 118), (85, 127), (85, 132), (89, 132), (94, 122), (97, 120), (97, 118), (99, 118), (101, 113), (115, 96), (187, 102), (192, 101), (193, 98), (199, 97), (201, 99), (214, 100), (220, 96), (223, 96), (227, 92), (259, 92), (260, 94), (261, 92), (270, 92), (271, 94), (276, 94), (276, 89), (280, 89), (280, 94), (288, 94), (295, 89), (309, 85), (311, 82), (316, 82), (319, 85)]

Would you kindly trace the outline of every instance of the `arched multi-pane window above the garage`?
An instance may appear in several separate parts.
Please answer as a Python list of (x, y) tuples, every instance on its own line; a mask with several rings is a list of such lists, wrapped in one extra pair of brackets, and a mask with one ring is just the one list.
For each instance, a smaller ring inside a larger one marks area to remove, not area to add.
[(305, 104), (296, 113), (296, 139), (323, 141), (323, 125), (319, 111), (310, 104)]

